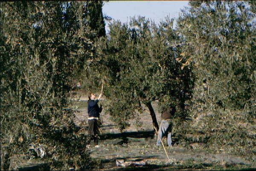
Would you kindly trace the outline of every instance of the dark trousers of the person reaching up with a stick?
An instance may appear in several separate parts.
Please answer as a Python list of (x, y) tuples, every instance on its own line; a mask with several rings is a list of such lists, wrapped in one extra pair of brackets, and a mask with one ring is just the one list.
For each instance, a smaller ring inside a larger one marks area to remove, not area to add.
[(89, 123), (89, 130), (88, 130), (88, 137), (87, 137), (87, 143), (90, 144), (90, 140), (94, 140), (94, 144), (98, 145), (99, 140), (99, 125), (98, 120), (88, 120)]

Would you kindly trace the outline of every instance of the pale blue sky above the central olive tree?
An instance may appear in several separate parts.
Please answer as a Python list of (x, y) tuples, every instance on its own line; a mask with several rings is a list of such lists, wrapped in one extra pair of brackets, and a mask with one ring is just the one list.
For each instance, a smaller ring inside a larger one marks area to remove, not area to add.
[[(180, 9), (188, 6), (187, 0), (113, 0), (105, 2), (102, 8), (103, 14), (121, 20), (122, 23), (128, 22), (130, 17), (145, 16), (158, 23), (169, 15), (177, 18)], [(106, 32), (109, 31), (106, 22)]]

